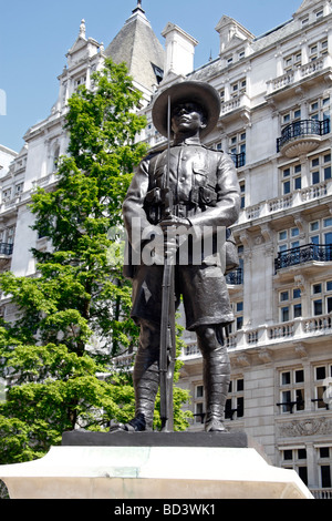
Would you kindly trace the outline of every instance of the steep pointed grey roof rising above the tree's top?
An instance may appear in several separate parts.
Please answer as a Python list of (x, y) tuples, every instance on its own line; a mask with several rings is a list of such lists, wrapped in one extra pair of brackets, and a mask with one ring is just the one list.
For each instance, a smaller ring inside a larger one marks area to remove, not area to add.
[(164, 70), (164, 48), (154, 33), (141, 4), (105, 50), (115, 63), (125, 62), (137, 83), (154, 91)]

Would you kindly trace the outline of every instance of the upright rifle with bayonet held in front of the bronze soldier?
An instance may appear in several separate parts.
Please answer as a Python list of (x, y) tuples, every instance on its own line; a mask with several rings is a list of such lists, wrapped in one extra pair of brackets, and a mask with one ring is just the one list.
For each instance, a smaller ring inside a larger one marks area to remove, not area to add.
[[(167, 111), (167, 172), (163, 190), (163, 218), (173, 213), (173, 193), (169, 187), (169, 157), (170, 157), (170, 96), (168, 96)], [(174, 426), (173, 411), (173, 376), (175, 366), (175, 290), (174, 290), (174, 262), (164, 260), (162, 288), (162, 321), (160, 321), (160, 354), (159, 354), (159, 386), (160, 386), (160, 419), (162, 430), (172, 431)]]

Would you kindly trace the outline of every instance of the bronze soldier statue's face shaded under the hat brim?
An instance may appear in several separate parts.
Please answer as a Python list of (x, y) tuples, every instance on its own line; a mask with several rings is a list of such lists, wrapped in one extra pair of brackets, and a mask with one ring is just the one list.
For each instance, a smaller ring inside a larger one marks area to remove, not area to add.
[(172, 130), (176, 135), (194, 135), (205, 126), (203, 110), (196, 103), (178, 103), (172, 110)]

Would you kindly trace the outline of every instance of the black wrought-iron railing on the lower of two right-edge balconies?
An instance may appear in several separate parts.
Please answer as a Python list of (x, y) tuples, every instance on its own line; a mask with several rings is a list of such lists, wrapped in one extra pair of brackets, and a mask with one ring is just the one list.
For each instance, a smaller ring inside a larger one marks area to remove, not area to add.
[(305, 244), (297, 248), (279, 252), (274, 259), (276, 272), (281, 268), (294, 266), (297, 264), (319, 260), (326, 263), (332, 260), (332, 244)]

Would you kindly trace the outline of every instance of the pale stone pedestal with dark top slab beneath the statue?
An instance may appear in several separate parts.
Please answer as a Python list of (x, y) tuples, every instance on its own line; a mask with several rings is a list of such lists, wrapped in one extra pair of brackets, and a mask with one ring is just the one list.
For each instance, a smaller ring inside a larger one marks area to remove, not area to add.
[(0, 466), (12, 499), (309, 499), (243, 433), (68, 432), (40, 460)]

